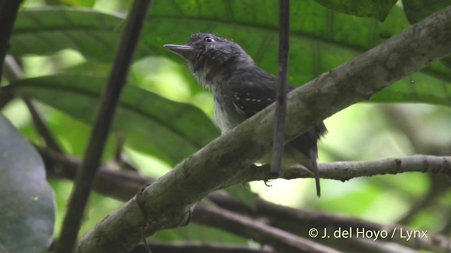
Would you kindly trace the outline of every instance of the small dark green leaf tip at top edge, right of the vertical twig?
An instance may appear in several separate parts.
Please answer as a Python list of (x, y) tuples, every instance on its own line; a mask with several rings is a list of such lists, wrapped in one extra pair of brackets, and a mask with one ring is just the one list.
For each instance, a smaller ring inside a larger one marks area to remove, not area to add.
[(376, 18), (383, 22), (397, 0), (315, 0), (319, 4), (357, 17)]

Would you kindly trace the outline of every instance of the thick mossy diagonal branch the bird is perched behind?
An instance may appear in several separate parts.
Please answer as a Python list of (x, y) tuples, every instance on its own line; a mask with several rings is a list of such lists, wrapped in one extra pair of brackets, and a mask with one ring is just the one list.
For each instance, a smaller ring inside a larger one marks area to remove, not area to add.
[[(449, 54), (451, 7), (289, 93), (285, 141)], [(271, 105), (143, 189), (139, 204), (133, 198), (106, 216), (77, 252), (123, 252), (140, 242), (142, 224), (147, 234), (185, 224), (194, 203), (269, 152), (273, 124)]]

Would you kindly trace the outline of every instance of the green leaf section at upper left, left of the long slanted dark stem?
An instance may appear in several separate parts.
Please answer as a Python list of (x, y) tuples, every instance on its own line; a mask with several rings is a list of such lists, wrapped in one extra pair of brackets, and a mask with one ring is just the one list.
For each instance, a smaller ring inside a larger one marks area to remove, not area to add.
[(90, 8), (23, 9), (14, 24), (9, 52), (45, 55), (73, 48), (87, 58), (111, 61), (123, 22), (123, 18)]

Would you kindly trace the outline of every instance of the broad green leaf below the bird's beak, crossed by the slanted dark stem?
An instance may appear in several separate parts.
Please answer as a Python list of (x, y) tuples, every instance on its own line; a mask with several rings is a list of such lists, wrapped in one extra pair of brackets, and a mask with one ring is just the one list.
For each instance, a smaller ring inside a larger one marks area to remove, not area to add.
[[(92, 124), (105, 83), (104, 77), (60, 74), (22, 79), (8, 89)], [(125, 133), (132, 148), (169, 164), (180, 162), (219, 136), (216, 126), (198, 108), (130, 84), (123, 91), (113, 131)]]

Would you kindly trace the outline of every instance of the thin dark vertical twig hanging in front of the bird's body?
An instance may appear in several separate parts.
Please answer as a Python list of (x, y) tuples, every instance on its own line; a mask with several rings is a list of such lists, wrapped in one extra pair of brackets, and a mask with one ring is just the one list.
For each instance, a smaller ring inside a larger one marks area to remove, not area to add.
[(271, 174), (278, 176), (282, 162), (287, 110), (288, 52), (290, 51), (290, 1), (279, 1), (279, 78), (276, 89), (276, 125), (273, 137)]

